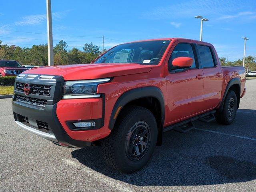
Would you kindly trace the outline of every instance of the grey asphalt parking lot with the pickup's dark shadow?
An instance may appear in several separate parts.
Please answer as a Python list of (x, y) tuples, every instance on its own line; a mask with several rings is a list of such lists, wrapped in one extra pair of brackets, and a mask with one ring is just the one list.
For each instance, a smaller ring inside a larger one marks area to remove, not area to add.
[(11, 99), (1, 99), (0, 191), (255, 191), (256, 80), (246, 88), (232, 125), (166, 132), (133, 174), (110, 169), (100, 147), (64, 148), (18, 128)]

